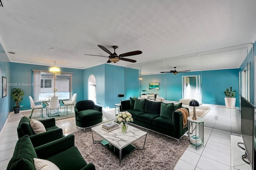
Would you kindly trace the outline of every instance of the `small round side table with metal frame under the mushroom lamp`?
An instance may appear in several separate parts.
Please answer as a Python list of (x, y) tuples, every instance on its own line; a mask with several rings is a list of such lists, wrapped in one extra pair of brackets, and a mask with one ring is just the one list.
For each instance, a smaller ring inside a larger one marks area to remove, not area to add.
[(196, 120), (193, 120), (192, 116), (188, 117), (188, 140), (196, 148), (204, 146), (204, 119), (201, 117), (196, 117)]

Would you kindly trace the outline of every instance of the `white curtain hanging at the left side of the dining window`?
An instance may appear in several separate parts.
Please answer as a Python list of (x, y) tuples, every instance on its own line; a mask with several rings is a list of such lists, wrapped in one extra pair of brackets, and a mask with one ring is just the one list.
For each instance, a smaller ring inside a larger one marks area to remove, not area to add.
[(38, 102), (41, 84), (41, 71), (33, 70), (33, 96), (34, 102)]

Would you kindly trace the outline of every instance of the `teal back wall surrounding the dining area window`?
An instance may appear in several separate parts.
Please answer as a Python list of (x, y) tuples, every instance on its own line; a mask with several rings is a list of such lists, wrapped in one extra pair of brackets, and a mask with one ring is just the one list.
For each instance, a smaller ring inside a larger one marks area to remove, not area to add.
[[(34, 64), (21, 64), (21, 63), (10, 63), (11, 66), (11, 83), (17, 84), (30, 84), (32, 83), (32, 70), (49, 70), (50, 66), (41, 66)], [(76, 93), (76, 100), (83, 99), (83, 70), (74, 68), (60, 68), (62, 72), (74, 72), (72, 76), (72, 93)], [(30, 102), (28, 96), (32, 96), (31, 86), (12, 86), (11, 88), (21, 88), (24, 91), (24, 97), (20, 105), (20, 110), (30, 109)], [(12, 100), (13, 101), (13, 100)], [(14, 103), (10, 104), (10, 111), (13, 111)]]

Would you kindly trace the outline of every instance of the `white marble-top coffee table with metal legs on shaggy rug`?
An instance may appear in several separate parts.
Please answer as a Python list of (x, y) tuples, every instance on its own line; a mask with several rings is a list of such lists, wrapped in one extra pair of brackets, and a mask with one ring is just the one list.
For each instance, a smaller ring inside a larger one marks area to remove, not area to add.
[[(102, 141), (94, 141), (94, 133), (103, 138)], [(136, 147), (132, 143), (138, 139), (145, 137), (143, 147)], [(147, 133), (137, 129), (136, 127), (128, 125), (128, 132), (122, 133), (121, 129), (115, 129), (110, 132), (102, 130), (102, 125), (92, 127), (92, 141), (93, 143), (102, 143), (105, 147), (110, 149), (120, 160), (127, 156), (135, 149), (144, 149), (146, 143)]]

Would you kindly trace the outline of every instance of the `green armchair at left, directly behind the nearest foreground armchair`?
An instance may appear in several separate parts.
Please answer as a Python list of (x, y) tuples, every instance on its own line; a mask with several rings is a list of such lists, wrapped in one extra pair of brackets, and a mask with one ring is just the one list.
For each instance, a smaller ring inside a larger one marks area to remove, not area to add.
[(18, 138), (29, 135), (33, 146), (38, 147), (64, 137), (62, 129), (55, 125), (54, 118), (40, 120), (40, 122), (43, 123), (46, 132), (35, 134), (30, 126), (30, 119), (26, 116), (22, 117), (17, 127)]

